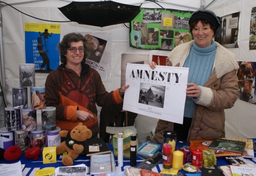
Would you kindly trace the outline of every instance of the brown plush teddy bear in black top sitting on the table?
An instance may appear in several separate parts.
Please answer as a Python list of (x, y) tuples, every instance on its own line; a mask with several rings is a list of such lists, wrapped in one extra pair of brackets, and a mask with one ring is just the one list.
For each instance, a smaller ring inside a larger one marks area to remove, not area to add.
[(84, 141), (92, 137), (92, 131), (82, 123), (78, 123), (71, 132), (67, 130), (59, 131), (59, 136), (65, 137), (66, 141), (61, 142), (61, 144), (56, 147), (56, 155), (68, 152), (68, 155), (62, 158), (62, 164), (72, 166), (73, 161), (84, 149)]

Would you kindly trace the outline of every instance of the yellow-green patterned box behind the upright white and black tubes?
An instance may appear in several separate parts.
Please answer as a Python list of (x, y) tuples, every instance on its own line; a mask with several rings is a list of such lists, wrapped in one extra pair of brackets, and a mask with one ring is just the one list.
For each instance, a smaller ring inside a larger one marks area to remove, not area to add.
[[(130, 141), (131, 135), (136, 134), (136, 140), (138, 144), (138, 132), (132, 131), (130, 129), (124, 130), (123, 132), (123, 158), (130, 159)], [(114, 148), (114, 156), (117, 157), (118, 151), (118, 134), (113, 136), (113, 148)], [(137, 145), (137, 152), (138, 152), (138, 145)]]

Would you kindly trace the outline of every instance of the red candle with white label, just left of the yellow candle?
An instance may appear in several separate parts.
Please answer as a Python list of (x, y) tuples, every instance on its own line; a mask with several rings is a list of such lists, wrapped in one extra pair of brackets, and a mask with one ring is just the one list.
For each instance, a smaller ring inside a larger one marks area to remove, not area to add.
[(173, 164), (173, 146), (170, 144), (163, 144), (163, 168), (170, 169)]

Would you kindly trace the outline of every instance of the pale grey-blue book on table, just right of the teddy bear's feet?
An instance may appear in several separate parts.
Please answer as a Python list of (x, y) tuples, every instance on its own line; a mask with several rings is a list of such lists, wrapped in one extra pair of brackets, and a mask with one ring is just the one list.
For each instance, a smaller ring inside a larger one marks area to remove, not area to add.
[(113, 152), (91, 155), (90, 174), (110, 173), (116, 171), (116, 162)]

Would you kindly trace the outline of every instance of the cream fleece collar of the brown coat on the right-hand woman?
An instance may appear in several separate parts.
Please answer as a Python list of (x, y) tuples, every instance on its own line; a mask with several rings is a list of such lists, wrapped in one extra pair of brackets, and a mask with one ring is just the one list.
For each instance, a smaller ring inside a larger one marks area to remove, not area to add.
[[(182, 67), (188, 54), (191, 46), (193, 45), (194, 40), (189, 41), (187, 43), (183, 43), (182, 45), (177, 46), (173, 51), (168, 55), (169, 61), (173, 66), (179, 64), (179, 67)], [(215, 41), (216, 55), (214, 61), (214, 68), (216, 71), (216, 77), (220, 78), (226, 73), (229, 73), (233, 70), (237, 70), (239, 68), (237, 63), (237, 57), (234, 53), (230, 52), (226, 48), (220, 45), (220, 43)]]

